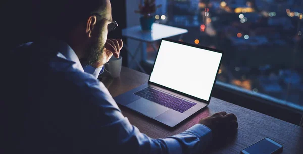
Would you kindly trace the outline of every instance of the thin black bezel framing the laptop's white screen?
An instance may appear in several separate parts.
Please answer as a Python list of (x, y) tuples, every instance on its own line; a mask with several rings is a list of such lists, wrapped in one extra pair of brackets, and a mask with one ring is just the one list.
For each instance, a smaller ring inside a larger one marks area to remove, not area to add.
[[(154, 67), (155, 67), (155, 63), (156, 63), (156, 60), (157, 60), (157, 57), (158, 57), (158, 53), (159, 53), (159, 50), (160, 50), (160, 46), (161, 46), (162, 41), (169, 41), (169, 42), (173, 42), (173, 43), (183, 44), (183, 45), (187, 45), (187, 46), (191, 46), (191, 47), (195, 47), (195, 48), (200, 48), (200, 49), (205, 49), (205, 50), (209, 50), (209, 51), (213, 51), (213, 52), (217, 52), (217, 53), (221, 53), (221, 54), (222, 54), (222, 56), (221, 56), (221, 58), (220, 58), (219, 67), (217, 68), (217, 74), (216, 74), (216, 76), (215, 76), (214, 83), (213, 83), (213, 86), (212, 86), (212, 89), (211, 89), (211, 94), (210, 94), (210, 97), (209, 97), (208, 101), (207, 101), (207, 100), (204, 100), (204, 99), (197, 98), (197, 97), (192, 96), (192, 95), (189, 95), (189, 94), (185, 94), (185, 93), (183, 93), (183, 92), (180, 92), (180, 91), (177, 91), (177, 90), (174, 90), (174, 89), (171, 89), (171, 88), (168, 88), (168, 87), (166, 87), (166, 86), (159, 85), (159, 84), (157, 84), (157, 83), (154, 83), (154, 82), (151, 82), (151, 81), (150, 81), (151, 74), (153, 74), (153, 70), (154, 70)], [(209, 103), (210, 103), (210, 100), (211, 100), (211, 97), (212, 97), (212, 92), (213, 92), (213, 89), (214, 89), (214, 85), (215, 85), (216, 80), (217, 80), (217, 77), (218, 77), (218, 73), (219, 73), (219, 69), (220, 69), (220, 66), (221, 66), (223, 54), (224, 54), (224, 53), (223, 53), (223, 51), (221, 51), (221, 50), (212, 49), (212, 48), (208, 48), (208, 47), (203, 47), (203, 46), (199, 46), (199, 45), (195, 45), (195, 44), (189, 44), (189, 43), (185, 43), (185, 42), (181, 42), (181, 41), (175, 41), (175, 40), (168, 39), (168, 38), (163, 38), (163, 39), (161, 39), (161, 42), (160, 42), (160, 45), (159, 45), (159, 48), (158, 48), (158, 52), (157, 52), (157, 55), (156, 55), (156, 58), (155, 58), (155, 62), (154, 62), (154, 65), (153, 65), (153, 69), (151, 69), (151, 73), (150, 73), (150, 75), (149, 75), (148, 84), (152, 84), (152, 85), (158, 86), (158, 87), (160, 87), (160, 88), (163, 88), (163, 89), (172, 91), (172, 92), (174, 92), (174, 93), (183, 95), (183, 96), (185, 96), (185, 97), (194, 99), (194, 100), (196, 100), (196, 101), (199, 101), (199, 102), (203, 102), (203, 103), (209, 104)]]

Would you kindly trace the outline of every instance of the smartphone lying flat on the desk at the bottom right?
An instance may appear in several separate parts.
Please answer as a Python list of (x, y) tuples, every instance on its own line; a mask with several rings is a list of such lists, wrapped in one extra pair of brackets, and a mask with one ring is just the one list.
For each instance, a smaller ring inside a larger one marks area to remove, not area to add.
[(241, 151), (241, 154), (275, 154), (280, 153), (283, 146), (274, 140), (266, 137), (255, 144), (248, 146)]

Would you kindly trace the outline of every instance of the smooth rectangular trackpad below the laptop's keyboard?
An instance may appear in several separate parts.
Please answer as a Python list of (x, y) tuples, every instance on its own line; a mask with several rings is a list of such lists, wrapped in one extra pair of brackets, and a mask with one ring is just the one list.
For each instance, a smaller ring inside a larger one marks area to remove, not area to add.
[(155, 118), (169, 110), (169, 108), (165, 106), (151, 102), (144, 98), (140, 98), (126, 106), (151, 118)]

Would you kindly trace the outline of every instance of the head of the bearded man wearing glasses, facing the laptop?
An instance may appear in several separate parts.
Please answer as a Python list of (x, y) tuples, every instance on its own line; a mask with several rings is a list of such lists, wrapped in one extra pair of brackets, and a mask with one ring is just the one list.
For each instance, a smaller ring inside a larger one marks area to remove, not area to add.
[(36, 22), (41, 34), (67, 42), (79, 59), (89, 64), (99, 59), (107, 40), (108, 27), (115, 25), (111, 22), (109, 0), (39, 3)]

